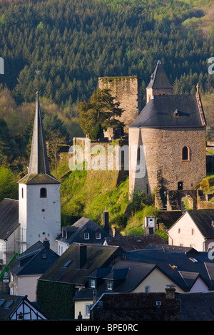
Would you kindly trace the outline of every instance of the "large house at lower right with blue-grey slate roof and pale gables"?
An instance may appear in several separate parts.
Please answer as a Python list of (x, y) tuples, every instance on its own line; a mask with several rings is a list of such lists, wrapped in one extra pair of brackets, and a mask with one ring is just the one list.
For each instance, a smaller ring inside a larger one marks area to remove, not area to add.
[(81, 307), (90, 309), (103, 293), (165, 292), (167, 285), (178, 293), (213, 292), (213, 269), (208, 252), (190, 247), (148, 244), (124, 252), (113, 265), (87, 275), (88, 283), (74, 297), (75, 316), (81, 311), (86, 318)]

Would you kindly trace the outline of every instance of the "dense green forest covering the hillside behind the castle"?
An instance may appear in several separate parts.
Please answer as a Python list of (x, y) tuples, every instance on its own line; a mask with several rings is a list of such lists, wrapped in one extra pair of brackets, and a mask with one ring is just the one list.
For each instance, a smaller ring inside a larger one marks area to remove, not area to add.
[(213, 17), (213, 0), (0, 0), (1, 165), (16, 175), (26, 169), (37, 90), (46, 139), (72, 139), (83, 135), (77, 105), (98, 77), (138, 76), (144, 104), (158, 59), (174, 93), (195, 93), (199, 82), (212, 111)]

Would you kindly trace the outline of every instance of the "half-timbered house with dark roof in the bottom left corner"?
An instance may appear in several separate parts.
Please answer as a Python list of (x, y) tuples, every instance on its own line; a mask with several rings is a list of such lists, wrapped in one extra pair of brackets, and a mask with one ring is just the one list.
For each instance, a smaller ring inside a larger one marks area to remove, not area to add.
[(27, 296), (0, 294), (0, 320), (46, 320)]

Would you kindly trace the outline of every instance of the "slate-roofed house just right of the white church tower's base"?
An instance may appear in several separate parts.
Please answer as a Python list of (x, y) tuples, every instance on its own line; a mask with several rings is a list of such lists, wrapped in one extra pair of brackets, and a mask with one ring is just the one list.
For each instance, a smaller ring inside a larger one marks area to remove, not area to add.
[(103, 244), (106, 237), (110, 237), (106, 230), (92, 220), (81, 217), (73, 225), (61, 228), (61, 234), (56, 238), (58, 254), (63, 254), (72, 243)]

